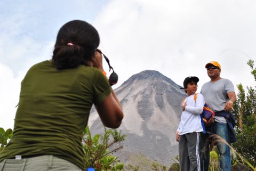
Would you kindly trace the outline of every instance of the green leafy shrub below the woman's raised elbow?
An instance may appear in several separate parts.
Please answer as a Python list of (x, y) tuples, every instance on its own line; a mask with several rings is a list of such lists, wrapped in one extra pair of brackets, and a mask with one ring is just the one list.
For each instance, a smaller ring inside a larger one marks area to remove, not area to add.
[[(100, 170), (123, 170), (124, 164), (111, 153), (122, 149), (123, 146), (109, 150), (114, 144), (125, 140), (126, 135), (121, 135), (115, 129), (106, 129), (103, 135), (91, 135), (89, 127), (84, 130), (83, 149), (85, 153), (86, 167), (93, 167), (96, 171)], [(111, 138), (111, 139), (110, 139)]]

